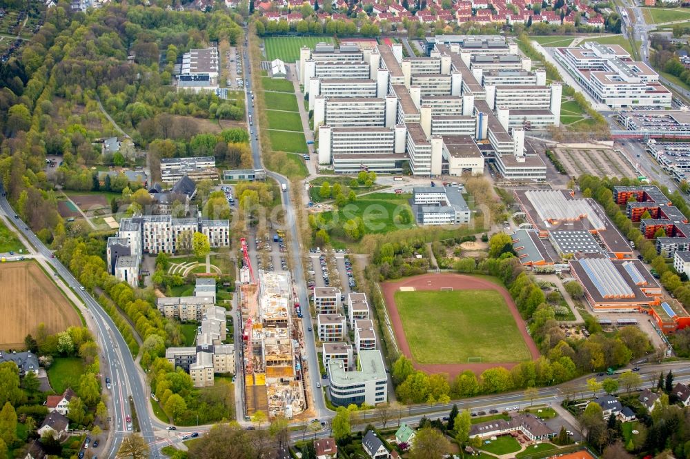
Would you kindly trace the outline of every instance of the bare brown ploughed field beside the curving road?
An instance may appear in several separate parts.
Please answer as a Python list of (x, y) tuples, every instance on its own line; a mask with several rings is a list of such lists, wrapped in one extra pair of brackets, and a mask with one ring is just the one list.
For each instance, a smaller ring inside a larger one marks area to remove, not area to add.
[(79, 314), (34, 261), (0, 265), (0, 349), (23, 347), (39, 323), (50, 334), (81, 325)]

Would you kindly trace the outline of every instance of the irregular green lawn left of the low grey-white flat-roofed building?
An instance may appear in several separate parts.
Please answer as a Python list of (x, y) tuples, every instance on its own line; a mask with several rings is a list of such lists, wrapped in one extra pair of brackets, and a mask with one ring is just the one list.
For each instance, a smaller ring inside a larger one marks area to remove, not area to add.
[(349, 203), (337, 211), (324, 212), (323, 216), (326, 223), (335, 219), (338, 225), (361, 217), (368, 234), (382, 234), (415, 227), (414, 222), (406, 225), (395, 223), (395, 216), (400, 214), (404, 207), (409, 209), (406, 195), (372, 193), (357, 198), (354, 203)]

